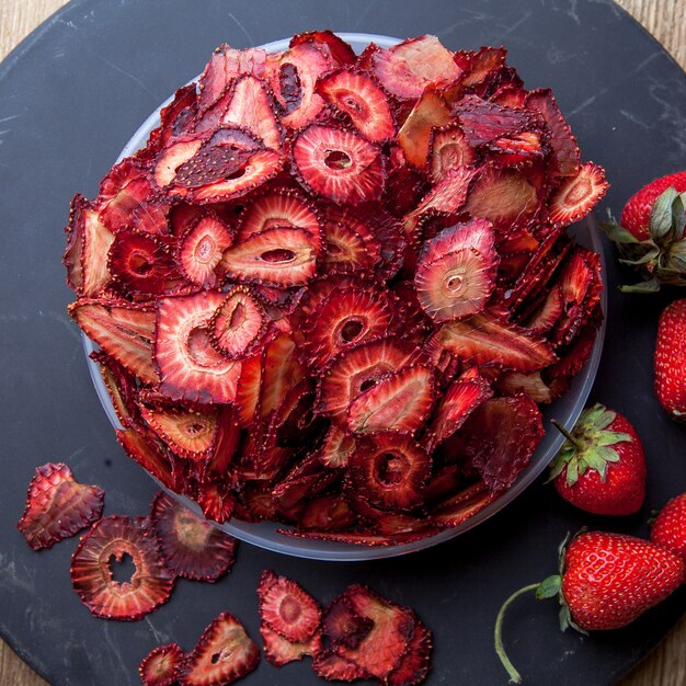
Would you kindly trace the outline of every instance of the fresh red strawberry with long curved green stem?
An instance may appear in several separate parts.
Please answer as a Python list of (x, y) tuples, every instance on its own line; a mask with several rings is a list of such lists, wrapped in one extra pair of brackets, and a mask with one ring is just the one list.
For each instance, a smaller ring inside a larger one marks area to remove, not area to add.
[(619, 629), (671, 595), (684, 581), (684, 561), (647, 540), (587, 531), (560, 551), (560, 573), (513, 593), (495, 620), (495, 652), (511, 681), (522, 676), (503, 648), (502, 628), (507, 607), (529, 591), (536, 598), (558, 597), (560, 628), (585, 633)]

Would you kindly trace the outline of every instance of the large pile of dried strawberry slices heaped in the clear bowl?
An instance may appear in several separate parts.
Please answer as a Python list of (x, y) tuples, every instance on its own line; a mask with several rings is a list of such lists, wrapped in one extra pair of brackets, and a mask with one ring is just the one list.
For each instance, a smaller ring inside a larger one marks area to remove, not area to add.
[(369, 546), (506, 491), (602, 320), (603, 197), (503, 48), (218, 48), (93, 201), (69, 312), (127, 454), (209, 519)]

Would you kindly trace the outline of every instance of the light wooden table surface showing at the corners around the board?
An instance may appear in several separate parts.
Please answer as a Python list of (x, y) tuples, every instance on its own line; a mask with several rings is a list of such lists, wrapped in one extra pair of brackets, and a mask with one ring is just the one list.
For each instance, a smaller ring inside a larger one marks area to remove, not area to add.
[[(686, 69), (686, 0), (617, 0)], [(1, 0), (0, 60), (65, 0)], [(608, 39), (611, 37), (608, 36)], [(19, 516), (19, 515), (18, 515)], [(686, 684), (686, 617), (617, 686)], [(0, 686), (45, 686), (45, 682), (0, 640)]]

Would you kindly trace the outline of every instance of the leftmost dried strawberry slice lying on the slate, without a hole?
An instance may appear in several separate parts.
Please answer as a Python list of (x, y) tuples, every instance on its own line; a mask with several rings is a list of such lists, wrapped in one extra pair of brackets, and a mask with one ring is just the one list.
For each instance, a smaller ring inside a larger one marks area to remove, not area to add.
[(36, 467), (16, 528), (34, 550), (52, 548), (100, 519), (104, 496), (101, 488), (78, 483), (67, 465), (47, 462)]

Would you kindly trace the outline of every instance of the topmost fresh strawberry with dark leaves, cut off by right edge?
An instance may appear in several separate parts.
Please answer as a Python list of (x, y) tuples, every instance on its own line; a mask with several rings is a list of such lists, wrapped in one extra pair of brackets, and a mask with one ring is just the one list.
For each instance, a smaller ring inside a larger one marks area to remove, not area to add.
[(642, 283), (625, 293), (654, 293), (661, 284), (686, 285), (686, 171), (655, 179), (631, 196), (619, 224), (611, 217), (601, 226), (617, 243), (622, 262), (632, 264)]

